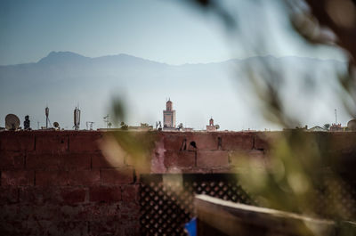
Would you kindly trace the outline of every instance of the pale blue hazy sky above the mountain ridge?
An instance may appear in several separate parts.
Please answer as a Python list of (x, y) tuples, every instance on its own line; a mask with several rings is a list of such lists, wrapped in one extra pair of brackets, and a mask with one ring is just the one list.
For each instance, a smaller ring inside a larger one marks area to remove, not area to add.
[[(236, 44), (236, 38), (227, 40), (220, 20), (182, 2), (1, 0), (0, 65), (36, 62), (52, 51), (89, 57), (127, 53), (170, 64), (224, 61), (255, 54), (240, 53), (241, 45)], [(264, 29), (267, 22), (257, 16), (266, 14), (265, 19), (275, 26), (269, 30), (276, 36), (273, 44), (279, 45), (279, 50), (270, 47), (262, 54), (341, 58), (326, 50), (311, 51), (300, 42), (280, 40), (286, 37), (287, 20), (273, 4), (278, 1), (262, 1), (257, 7), (255, 1), (248, 0), (219, 2), (229, 4), (232, 14), (239, 13), (241, 19), (248, 20), (248, 30)]]

